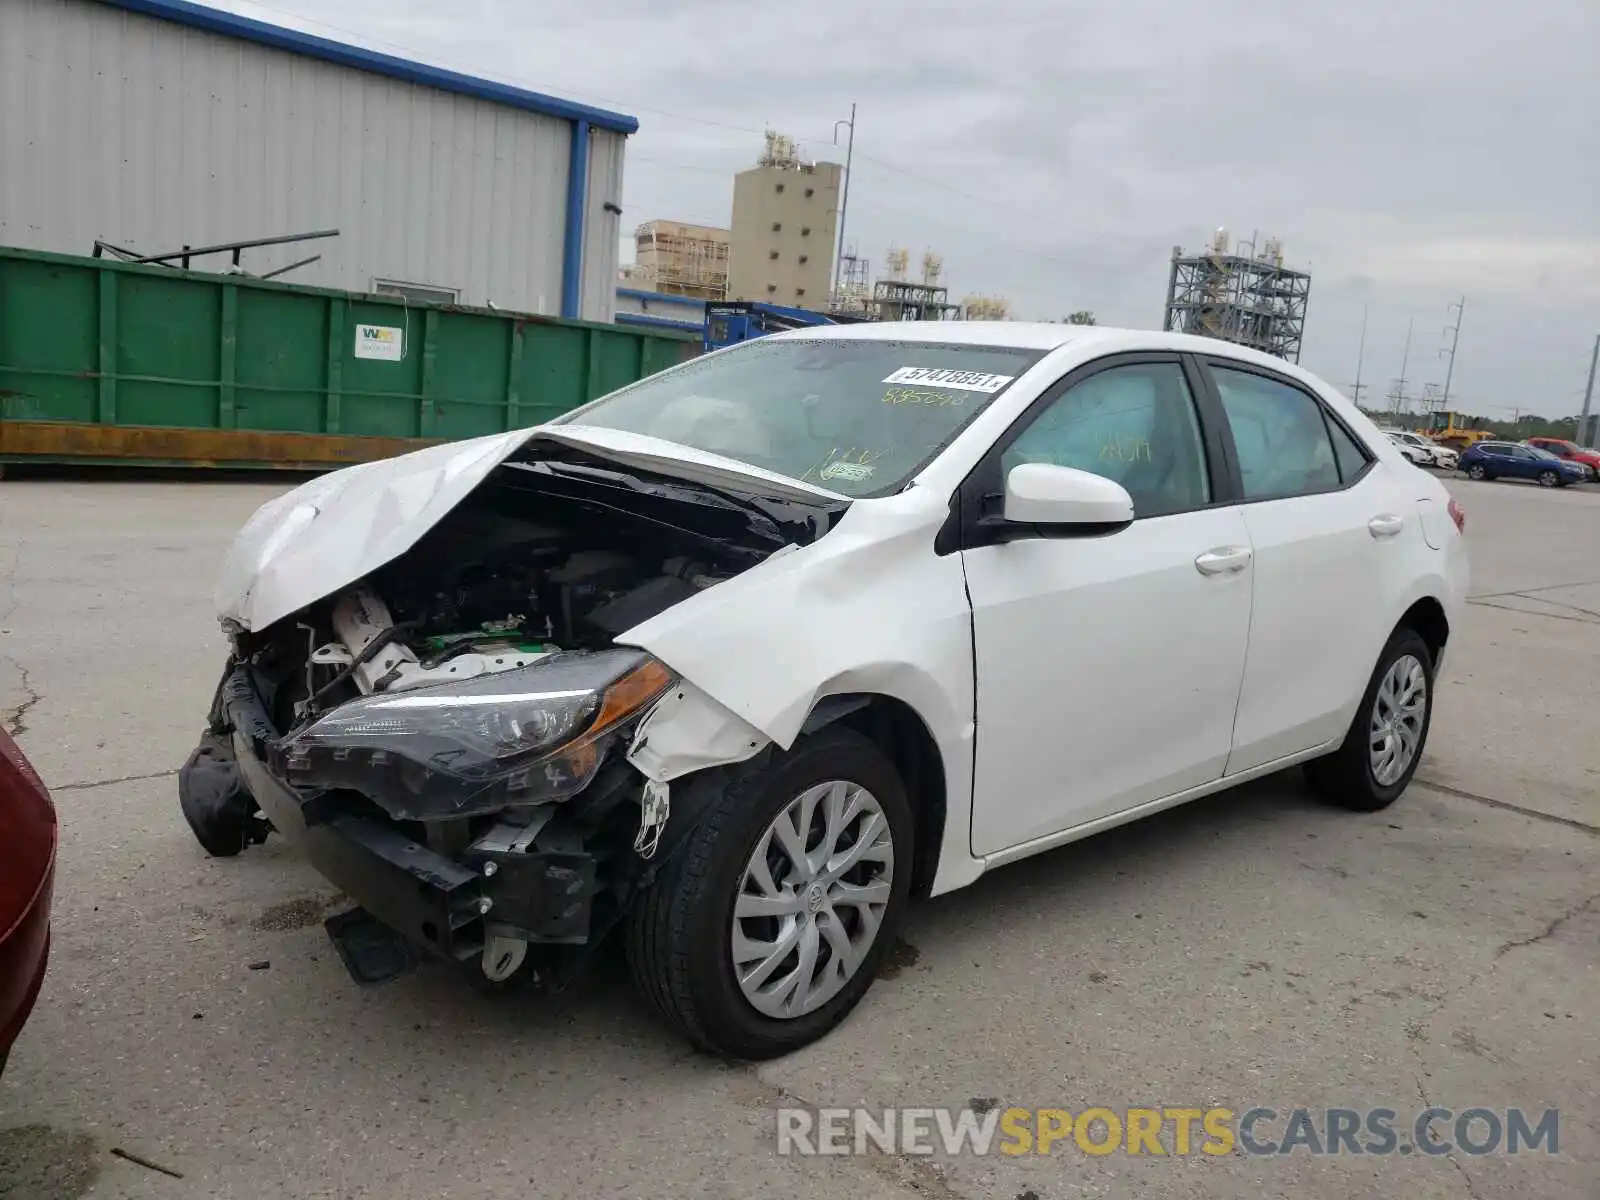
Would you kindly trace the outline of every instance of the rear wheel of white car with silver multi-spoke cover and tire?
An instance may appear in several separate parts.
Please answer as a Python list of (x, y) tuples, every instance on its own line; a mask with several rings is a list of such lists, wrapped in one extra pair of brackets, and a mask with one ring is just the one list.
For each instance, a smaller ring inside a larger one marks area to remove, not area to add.
[(1306, 765), (1330, 802), (1358, 813), (1387, 808), (1411, 782), (1434, 717), (1434, 654), (1414, 629), (1389, 638), (1344, 744)]

